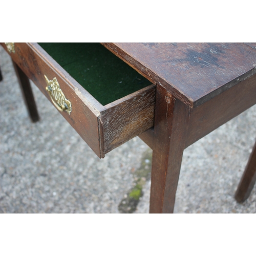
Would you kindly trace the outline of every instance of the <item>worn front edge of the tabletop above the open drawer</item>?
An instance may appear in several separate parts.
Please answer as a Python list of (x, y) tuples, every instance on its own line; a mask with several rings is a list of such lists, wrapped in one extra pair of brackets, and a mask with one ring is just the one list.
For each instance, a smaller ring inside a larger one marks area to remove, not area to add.
[(189, 97), (183, 95), (181, 91), (173, 87), (172, 84), (167, 83), (163, 78), (159, 78), (150, 69), (147, 70), (145, 63), (140, 63), (137, 59), (128, 56), (121, 48), (119, 48), (114, 43), (102, 42), (101, 43), (106, 49), (110, 50), (117, 57), (122, 59), (125, 63), (135, 69), (138, 73), (144, 76), (146, 79), (150, 80), (152, 83), (159, 83), (160, 86), (167, 88), (176, 98), (184, 102), (186, 105), (193, 106), (193, 100)]

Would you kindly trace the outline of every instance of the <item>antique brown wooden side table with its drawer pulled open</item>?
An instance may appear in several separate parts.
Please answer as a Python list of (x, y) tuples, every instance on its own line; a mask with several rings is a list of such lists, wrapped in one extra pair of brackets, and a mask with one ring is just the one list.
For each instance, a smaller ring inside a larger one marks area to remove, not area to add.
[[(102, 105), (37, 44), (17, 44), (10, 55), (17, 75), (32, 79), (99, 157), (139, 135), (153, 149), (150, 212), (172, 213), (184, 149), (256, 103), (256, 44), (102, 45), (153, 85)], [(54, 76), (62, 101), (49, 93)], [(238, 201), (255, 183), (255, 158), (254, 146)]]

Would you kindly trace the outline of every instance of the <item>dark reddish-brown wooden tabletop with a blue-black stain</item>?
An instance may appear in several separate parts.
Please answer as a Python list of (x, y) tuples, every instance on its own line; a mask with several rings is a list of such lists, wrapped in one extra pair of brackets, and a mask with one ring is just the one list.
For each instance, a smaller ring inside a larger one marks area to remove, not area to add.
[(153, 83), (191, 107), (256, 73), (256, 50), (244, 43), (104, 43)]

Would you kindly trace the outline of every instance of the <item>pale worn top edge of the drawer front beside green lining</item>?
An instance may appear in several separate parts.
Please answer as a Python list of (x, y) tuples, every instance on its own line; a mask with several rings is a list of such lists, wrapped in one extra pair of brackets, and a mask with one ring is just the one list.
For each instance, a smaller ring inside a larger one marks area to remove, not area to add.
[(84, 89), (65, 69), (63, 69), (56, 60), (54, 60), (44, 49), (42, 49), (36, 42), (27, 43), (42, 59), (44, 59), (48, 66), (67, 82), (68, 86), (74, 88), (77, 96), (84, 104), (95, 114), (100, 115), (100, 111), (104, 110), (104, 106), (97, 101), (86, 89)]

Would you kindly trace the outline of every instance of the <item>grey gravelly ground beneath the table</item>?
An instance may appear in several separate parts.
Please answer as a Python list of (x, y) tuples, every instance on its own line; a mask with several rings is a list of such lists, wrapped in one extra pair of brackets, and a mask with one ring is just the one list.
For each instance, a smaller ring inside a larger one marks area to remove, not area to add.
[[(138, 137), (99, 159), (32, 83), (31, 123), (9, 55), (0, 47), (0, 212), (119, 213), (152, 151)], [(176, 213), (255, 213), (256, 188), (234, 200), (256, 134), (256, 105), (184, 151)], [(150, 179), (134, 213), (147, 213)]]

